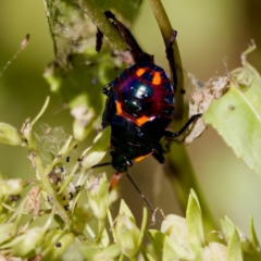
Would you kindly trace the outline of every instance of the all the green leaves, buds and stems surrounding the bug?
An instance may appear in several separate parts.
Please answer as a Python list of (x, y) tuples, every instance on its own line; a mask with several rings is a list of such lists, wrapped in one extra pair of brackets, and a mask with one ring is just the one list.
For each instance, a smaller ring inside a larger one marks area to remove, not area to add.
[[(117, 53), (124, 53), (125, 42), (103, 17), (103, 11), (113, 9), (126, 17), (127, 23), (135, 20), (140, 3), (129, 1), (129, 5), (117, 5), (117, 1), (107, 1), (104, 5), (104, 1), (78, 0), (72, 4), (66, 0), (46, 0), (55, 60), (46, 69), (45, 78), (51, 90), (69, 104), (75, 119), (73, 135), (63, 136), (62, 128), (49, 126), (37, 129), (49, 98), (37, 116), (26, 120), (20, 130), (0, 123), (0, 142), (25, 147), (35, 170), (35, 178), (27, 182), (0, 176), (1, 260), (70, 260), (66, 258), (70, 253), (77, 254), (77, 260), (261, 260), (253, 219), (250, 216), (249, 221), (250, 239), (243, 236), (228, 217), (221, 220), (221, 228), (216, 228), (201, 191), (196, 183), (191, 184), (192, 174), (188, 183), (175, 181), (182, 191), (179, 200), (187, 204), (186, 217), (164, 216), (163, 212), (159, 217), (156, 211), (152, 220), (161, 222), (161, 229), (148, 229), (147, 209), (140, 226), (123, 200), (119, 214), (112, 216), (110, 207), (117, 199), (116, 191), (109, 191), (104, 173), (96, 176), (91, 173), (91, 166), (102, 160), (109, 148), (110, 127), (101, 130), (80, 156), (75, 152), (75, 147), (88, 136), (101, 114), (102, 86), (123, 66), (119, 58), (110, 55), (108, 44), (101, 53), (95, 51), (96, 26)], [(153, 7), (160, 1), (150, 3), (156, 12)], [(165, 13), (154, 14), (167, 41), (170, 27), (167, 23), (161, 24), (167, 17)], [(243, 69), (197, 88), (190, 98), (190, 111), (204, 115), (186, 135), (185, 142), (201, 135), (206, 123), (211, 124), (235, 153), (261, 174), (261, 79), (246, 60), (253, 49), (252, 45), (243, 53)], [(177, 46), (174, 50), (175, 61), (182, 67)], [(175, 160), (170, 159), (173, 164)], [(27, 187), (30, 190), (18, 200)], [(37, 224), (40, 217), (45, 217), (41, 226)], [(144, 243), (145, 236), (148, 244)]]

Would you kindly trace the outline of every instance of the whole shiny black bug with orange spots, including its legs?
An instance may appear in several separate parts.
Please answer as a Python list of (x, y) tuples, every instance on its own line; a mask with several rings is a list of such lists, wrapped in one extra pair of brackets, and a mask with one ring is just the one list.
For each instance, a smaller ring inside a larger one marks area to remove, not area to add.
[[(160, 146), (162, 137), (175, 138), (201, 114), (194, 115), (177, 132), (167, 130), (174, 114), (175, 90), (178, 83), (174, 61), (173, 42), (176, 32), (166, 47), (166, 58), (171, 67), (173, 85), (163, 69), (153, 63), (153, 57), (144, 52), (130, 32), (110, 11), (107, 17), (125, 39), (135, 64), (124, 70), (103, 88), (108, 96), (102, 116), (102, 128), (111, 126), (112, 166), (117, 173), (125, 172), (133, 161), (140, 161), (152, 154), (164, 162)], [(98, 30), (97, 50), (102, 44), (102, 33)]]

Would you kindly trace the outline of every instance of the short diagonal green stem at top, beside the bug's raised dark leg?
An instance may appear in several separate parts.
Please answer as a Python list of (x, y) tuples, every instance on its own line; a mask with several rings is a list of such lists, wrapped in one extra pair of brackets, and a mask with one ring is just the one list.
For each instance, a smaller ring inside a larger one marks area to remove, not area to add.
[(111, 45), (113, 45), (115, 49), (121, 51), (127, 50), (127, 45), (117, 32), (117, 29), (105, 17), (102, 10), (96, 4), (94, 0), (84, 0), (79, 5), (82, 5), (85, 13), (89, 16), (92, 23), (103, 33), (104, 37)]

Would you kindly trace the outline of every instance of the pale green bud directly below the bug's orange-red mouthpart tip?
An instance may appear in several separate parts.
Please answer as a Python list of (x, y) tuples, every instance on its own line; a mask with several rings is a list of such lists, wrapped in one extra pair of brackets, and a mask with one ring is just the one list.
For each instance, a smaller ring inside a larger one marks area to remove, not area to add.
[(91, 177), (87, 181), (87, 197), (90, 209), (98, 220), (103, 220), (107, 216), (109, 207), (109, 188), (105, 173)]

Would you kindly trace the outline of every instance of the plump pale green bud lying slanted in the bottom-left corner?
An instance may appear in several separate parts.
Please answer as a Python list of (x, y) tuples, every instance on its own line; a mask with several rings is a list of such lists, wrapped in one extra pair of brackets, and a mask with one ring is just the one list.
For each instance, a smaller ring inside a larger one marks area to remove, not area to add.
[(12, 254), (21, 258), (32, 258), (39, 253), (37, 247), (45, 240), (46, 231), (41, 227), (34, 227), (24, 234), (15, 237), (12, 241), (0, 246), (5, 254)]

